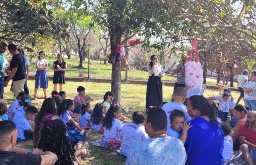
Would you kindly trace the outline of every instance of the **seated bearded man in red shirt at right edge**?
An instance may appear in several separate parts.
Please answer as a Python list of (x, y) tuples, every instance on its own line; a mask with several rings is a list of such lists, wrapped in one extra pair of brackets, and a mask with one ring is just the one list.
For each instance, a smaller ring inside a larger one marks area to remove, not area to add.
[(253, 165), (256, 161), (256, 111), (247, 113), (246, 123), (239, 127), (239, 141), (242, 144), (242, 157), (247, 165)]

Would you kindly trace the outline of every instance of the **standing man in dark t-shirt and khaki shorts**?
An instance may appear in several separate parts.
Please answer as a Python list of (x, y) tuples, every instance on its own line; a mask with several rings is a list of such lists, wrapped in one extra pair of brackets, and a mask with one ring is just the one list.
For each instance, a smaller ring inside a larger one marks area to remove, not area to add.
[(26, 62), (23, 54), (17, 51), (17, 46), (15, 44), (9, 44), (8, 50), (12, 55), (10, 61), (10, 67), (6, 71), (10, 70), (11, 73), (8, 76), (7, 80), (4, 82), (3, 86), (7, 87), (9, 81), (12, 79), (12, 92), (15, 97), (18, 97), (18, 94), (23, 90), (25, 84), (27, 73), (26, 73)]

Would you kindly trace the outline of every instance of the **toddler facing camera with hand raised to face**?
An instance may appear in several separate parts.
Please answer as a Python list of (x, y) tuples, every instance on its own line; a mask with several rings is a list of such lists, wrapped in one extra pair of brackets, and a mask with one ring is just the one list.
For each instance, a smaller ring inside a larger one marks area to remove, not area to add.
[[(190, 123), (185, 122), (185, 114), (181, 110), (175, 109), (170, 115), (171, 126), (167, 129), (166, 134), (168, 136), (179, 138), (183, 144), (186, 142), (188, 129), (192, 127), (189, 126)], [(182, 129), (182, 134), (179, 131)]]

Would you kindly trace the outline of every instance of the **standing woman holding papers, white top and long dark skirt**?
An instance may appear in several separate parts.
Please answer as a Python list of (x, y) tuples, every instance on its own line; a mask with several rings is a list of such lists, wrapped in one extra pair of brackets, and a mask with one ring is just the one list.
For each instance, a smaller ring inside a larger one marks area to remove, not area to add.
[(157, 57), (155, 55), (152, 55), (150, 60), (150, 64), (148, 65), (149, 78), (147, 83), (145, 110), (147, 110), (151, 105), (159, 107), (163, 102), (161, 77), (164, 76), (164, 74), (159, 75), (163, 68), (159, 63), (157, 63)]

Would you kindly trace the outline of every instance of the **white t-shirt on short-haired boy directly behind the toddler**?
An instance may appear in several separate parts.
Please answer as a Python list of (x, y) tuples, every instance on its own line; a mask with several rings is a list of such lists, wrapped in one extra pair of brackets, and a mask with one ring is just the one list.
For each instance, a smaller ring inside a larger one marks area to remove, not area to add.
[(162, 109), (164, 110), (164, 112), (166, 113), (166, 116), (167, 116), (167, 128), (169, 128), (171, 126), (169, 117), (171, 115), (171, 112), (174, 109), (181, 110), (185, 113), (185, 122), (188, 122), (191, 120), (191, 117), (187, 113), (187, 107), (184, 104), (170, 102), (170, 103), (164, 104)]

